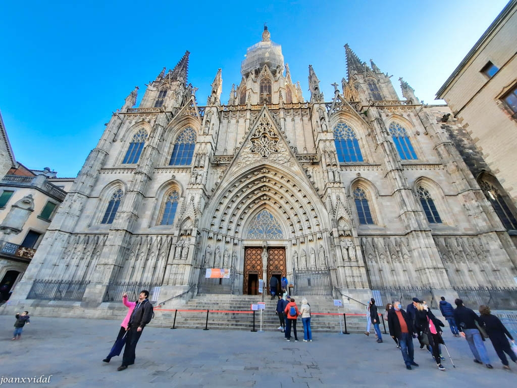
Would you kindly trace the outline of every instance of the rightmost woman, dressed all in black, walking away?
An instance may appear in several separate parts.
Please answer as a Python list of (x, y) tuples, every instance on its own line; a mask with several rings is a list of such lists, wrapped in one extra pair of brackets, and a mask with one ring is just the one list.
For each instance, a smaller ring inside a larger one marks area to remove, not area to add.
[(512, 342), (513, 337), (508, 332), (508, 330), (506, 330), (503, 322), (501, 322), (495, 315), (490, 314), (489, 306), (479, 306), (479, 312), (481, 314), (479, 319), (481, 319), (481, 322), (484, 324), (486, 334), (488, 334), (488, 337), (492, 341), (495, 352), (503, 363), (503, 368), (509, 370), (510, 367), (508, 366), (508, 359), (506, 358), (506, 354), (510, 356), (510, 359), (512, 359), (514, 363), (517, 363), (517, 356), (515, 356), (515, 353), (511, 349), (510, 343), (508, 342), (508, 339), (506, 339), (505, 334), (512, 340)]

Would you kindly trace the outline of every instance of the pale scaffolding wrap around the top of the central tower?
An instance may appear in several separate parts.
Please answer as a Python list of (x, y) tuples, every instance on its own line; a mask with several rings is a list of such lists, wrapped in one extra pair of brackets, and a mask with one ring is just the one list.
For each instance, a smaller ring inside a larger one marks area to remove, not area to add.
[(246, 51), (246, 59), (240, 65), (240, 73), (245, 76), (250, 71), (261, 69), (267, 65), (271, 72), (276, 71), (280, 66), (280, 71), (284, 70), (284, 56), (282, 46), (270, 40), (261, 41), (249, 47)]

